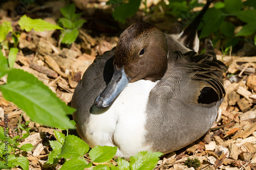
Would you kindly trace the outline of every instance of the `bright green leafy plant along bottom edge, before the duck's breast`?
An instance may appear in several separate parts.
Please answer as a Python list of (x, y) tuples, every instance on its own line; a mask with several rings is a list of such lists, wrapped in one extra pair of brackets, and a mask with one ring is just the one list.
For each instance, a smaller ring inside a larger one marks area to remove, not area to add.
[[(82, 170), (84, 168), (92, 167), (92, 162), (109, 162), (117, 151), (117, 147), (101, 147), (99, 145), (89, 151), (89, 145), (77, 136), (65, 136), (61, 132), (55, 130), (54, 134), (57, 138), (57, 141), (50, 141), (50, 145), (53, 151), (49, 154), (47, 163), (57, 163), (58, 160), (62, 157), (69, 159), (60, 168), (61, 170), (74, 168), (77, 170)], [(91, 162), (89, 163), (83, 158), (83, 155), (87, 154), (88, 151), (89, 157), (91, 158)], [(130, 158), (130, 162), (118, 158), (118, 167), (109, 162), (109, 165), (99, 164), (93, 169), (153, 169), (161, 155), (162, 153), (160, 152), (139, 152)]]

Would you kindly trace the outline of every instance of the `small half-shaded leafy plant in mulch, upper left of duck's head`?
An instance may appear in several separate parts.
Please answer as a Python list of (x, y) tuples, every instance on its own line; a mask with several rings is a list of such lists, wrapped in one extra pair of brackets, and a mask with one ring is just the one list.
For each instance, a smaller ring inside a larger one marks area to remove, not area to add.
[(60, 41), (61, 43), (71, 44), (74, 42), (79, 34), (78, 29), (82, 27), (86, 20), (79, 19), (81, 13), (75, 13), (75, 4), (67, 5), (60, 9), (63, 16), (59, 18), (59, 26), (63, 27), (65, 30), (61, 31)]

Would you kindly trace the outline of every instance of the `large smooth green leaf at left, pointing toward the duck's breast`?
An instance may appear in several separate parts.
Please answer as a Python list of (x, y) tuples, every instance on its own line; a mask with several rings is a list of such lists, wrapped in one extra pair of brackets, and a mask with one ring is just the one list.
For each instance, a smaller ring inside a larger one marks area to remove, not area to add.
[(4, 98), (25, 110), (32, 120), (51, 127), (74, 128), (66, 116), (74, 109), (36, 77), (20, 69), (11, 69), (7, 82), (1, 86)]

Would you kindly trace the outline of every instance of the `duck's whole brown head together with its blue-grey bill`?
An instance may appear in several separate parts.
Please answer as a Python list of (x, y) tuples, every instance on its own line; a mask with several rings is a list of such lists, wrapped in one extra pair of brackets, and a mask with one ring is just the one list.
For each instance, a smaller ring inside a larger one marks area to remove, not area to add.
[(160, 80), (167, 69), (167, 54), (167, 40), (156, 26), (138, 22), (127, 28), (116, 45), (112, 79), (94, 105), (109, 108), (128, 83)]

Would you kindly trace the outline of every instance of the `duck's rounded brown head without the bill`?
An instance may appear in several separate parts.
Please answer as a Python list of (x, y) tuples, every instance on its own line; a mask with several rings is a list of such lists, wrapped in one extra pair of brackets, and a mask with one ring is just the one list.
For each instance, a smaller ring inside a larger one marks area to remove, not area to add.
[(131, 82), (160, 80), (167, 69), (168, 45), (163, 33), (147, 22), (127, 28), (117, 42), (114, 65), (123, 67)]

